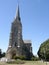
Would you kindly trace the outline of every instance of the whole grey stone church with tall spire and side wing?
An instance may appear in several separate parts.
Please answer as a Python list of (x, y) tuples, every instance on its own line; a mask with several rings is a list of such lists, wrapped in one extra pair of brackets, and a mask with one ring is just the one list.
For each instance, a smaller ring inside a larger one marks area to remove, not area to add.
[(18, 6), (16, 16), (11, 25), (9, 45), (6, 52), (7, 58), (11, 59), (13, 56), (25, 56), (29, 58), (33, 55), (31, 40), (23, 40), (22, 37), (22, 23)]

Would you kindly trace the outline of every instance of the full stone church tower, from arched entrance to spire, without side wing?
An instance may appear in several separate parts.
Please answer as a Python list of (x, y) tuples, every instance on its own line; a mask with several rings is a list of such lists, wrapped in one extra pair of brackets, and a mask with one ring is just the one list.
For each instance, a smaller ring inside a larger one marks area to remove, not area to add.
[(17, 7), (17, 13), (12, 22), (9, 46), (6, 53), (8, 58), (12, 58), (15, 54), (16, 56), (20, 56), (22, 53), (22, 24), (19, 12), (19, 6)]

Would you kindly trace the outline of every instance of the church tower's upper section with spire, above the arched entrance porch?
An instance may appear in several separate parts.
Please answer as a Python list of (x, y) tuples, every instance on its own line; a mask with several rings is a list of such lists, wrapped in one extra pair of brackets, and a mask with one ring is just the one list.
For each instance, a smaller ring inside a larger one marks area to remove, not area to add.
[(11, 34), (9, 46), (20, 46), (20, 40), (22, 39), (22, 24), (19, 13), (19, 6), (17, 7), (17, 14), (12, 22)]

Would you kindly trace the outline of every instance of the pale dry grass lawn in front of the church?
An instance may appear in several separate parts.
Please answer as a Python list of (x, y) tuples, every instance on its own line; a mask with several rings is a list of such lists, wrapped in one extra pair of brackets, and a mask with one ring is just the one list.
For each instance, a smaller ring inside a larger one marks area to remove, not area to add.
[[(0, 65), (46, 65), (46, 62), (41, 61), (25, 61), (24, 64), (7, 64), (4, 62), (0, 62)], [(49, 65), (49, 62), (47, 62), (47, 65)]]

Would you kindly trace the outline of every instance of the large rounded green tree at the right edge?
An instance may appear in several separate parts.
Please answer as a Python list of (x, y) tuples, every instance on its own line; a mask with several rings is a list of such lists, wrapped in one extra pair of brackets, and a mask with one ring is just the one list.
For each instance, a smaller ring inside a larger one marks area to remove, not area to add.
[(41, 44), (38, 56), (43, 60), (49, 60), (49, 39)]

